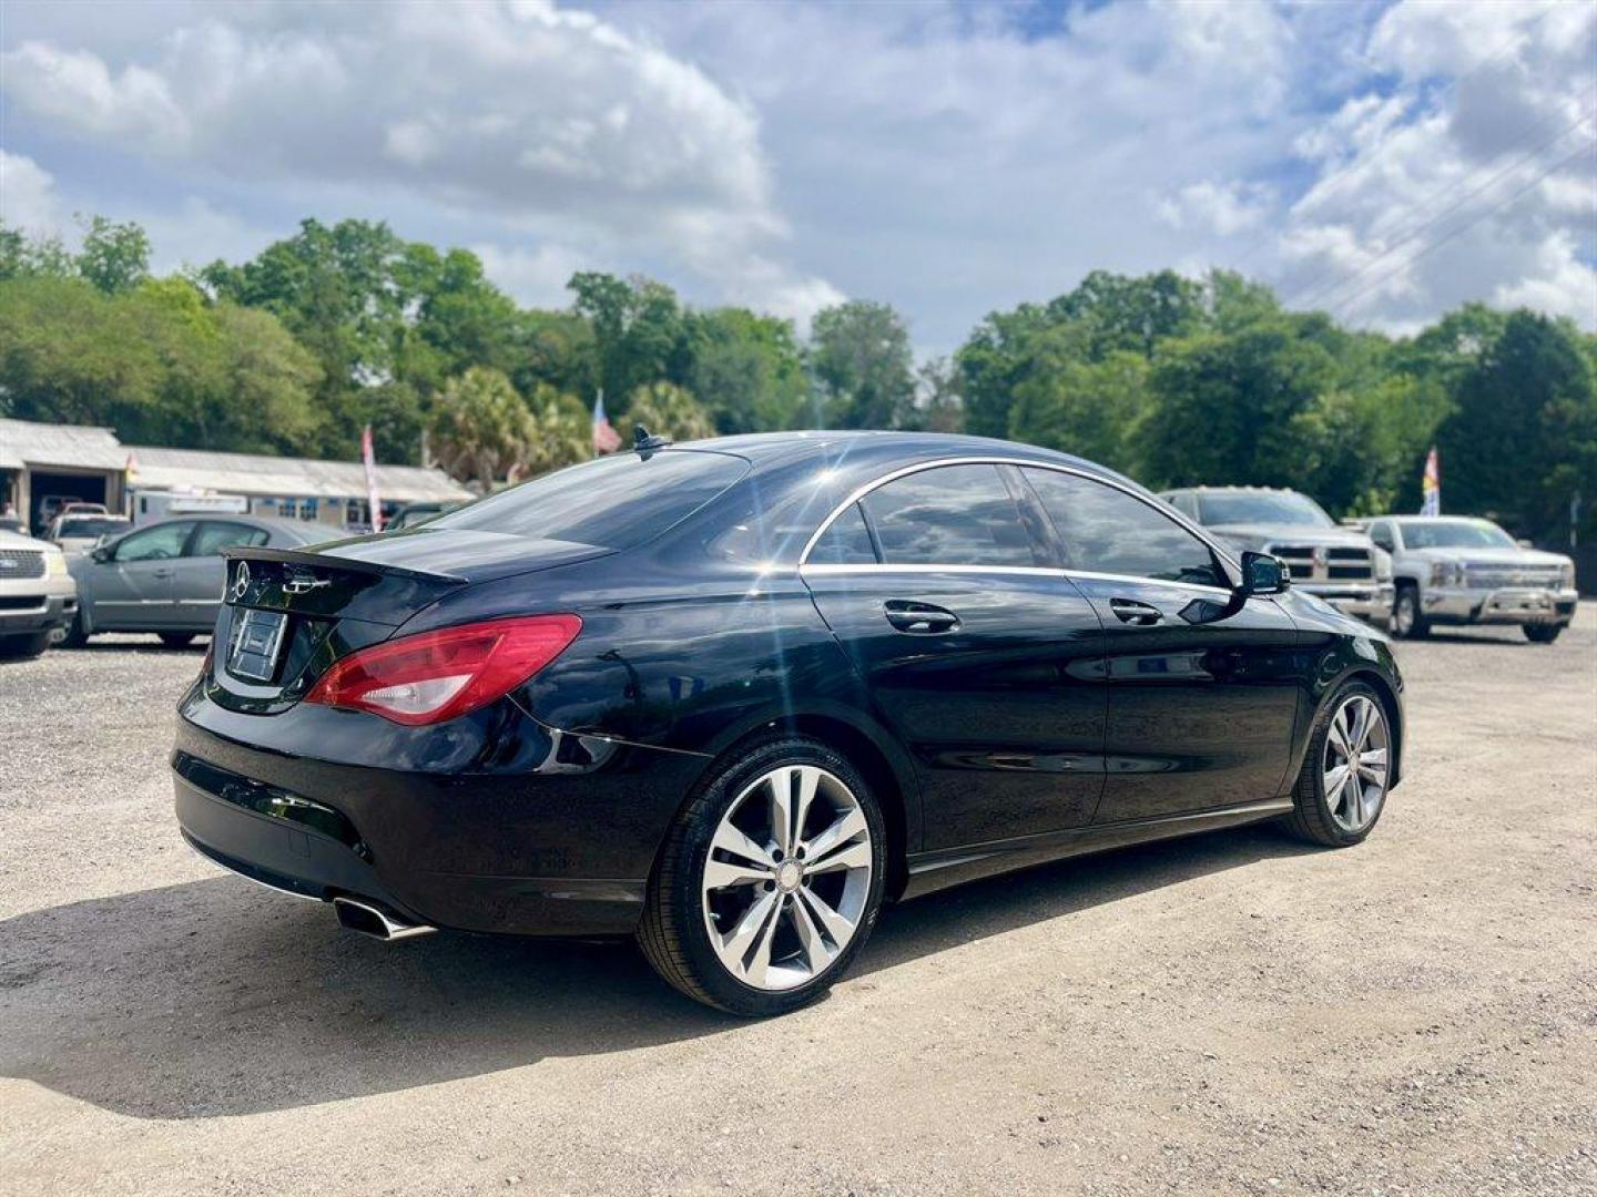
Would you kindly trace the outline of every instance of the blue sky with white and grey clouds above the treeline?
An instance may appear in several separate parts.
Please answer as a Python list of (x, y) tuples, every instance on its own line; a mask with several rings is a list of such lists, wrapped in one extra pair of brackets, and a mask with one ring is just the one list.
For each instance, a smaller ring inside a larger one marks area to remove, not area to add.
[(0, 219), (160, 270), (303, 217), (923, 354), (1089, 270), (1241, 270), (1412, 332), (1597, 327), (1597, 5), (0, 2)]

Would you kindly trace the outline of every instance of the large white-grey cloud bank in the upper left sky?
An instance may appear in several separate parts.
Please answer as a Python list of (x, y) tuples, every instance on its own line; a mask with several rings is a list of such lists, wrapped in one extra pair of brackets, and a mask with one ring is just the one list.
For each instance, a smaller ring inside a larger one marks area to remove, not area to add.
[(754, 110), (703, 70), (541, 0), (279, 5), (152, 38), (113, 69), (30, 38), (0, 57), (30, 118), (257, 187), (420, 200), (556, 243), (768, 278), (786, 222)]

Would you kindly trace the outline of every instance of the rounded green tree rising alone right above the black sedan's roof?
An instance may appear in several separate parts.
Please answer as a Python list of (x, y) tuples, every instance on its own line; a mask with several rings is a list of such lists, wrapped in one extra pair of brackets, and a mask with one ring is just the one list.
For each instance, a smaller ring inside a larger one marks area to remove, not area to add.
[(909, 329), (886, 303), (848, 300), (816, 313), (810, 372), (835, 428), (896, 428), (915, 402)]

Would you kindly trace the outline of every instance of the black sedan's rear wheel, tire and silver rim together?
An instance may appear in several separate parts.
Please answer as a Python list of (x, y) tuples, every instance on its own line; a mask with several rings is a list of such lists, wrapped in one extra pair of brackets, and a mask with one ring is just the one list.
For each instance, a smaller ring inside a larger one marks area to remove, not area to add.
[(882, 908), (886, 833), (866, 779), (819, 741), (717, 764), (677, 816), (637, 938), (688, 998), (738, 1015), (813, 1002)]

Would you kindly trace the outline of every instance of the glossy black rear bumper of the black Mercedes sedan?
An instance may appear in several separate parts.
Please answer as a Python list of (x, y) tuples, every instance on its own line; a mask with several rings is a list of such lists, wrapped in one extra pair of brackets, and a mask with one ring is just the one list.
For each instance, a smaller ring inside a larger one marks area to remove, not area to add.
[[(240, 715), (196, 688), (172, 753), (179, 827), (201, 854), (254, 881), (323, 902), (363, 899), (406, 922), (631, 934), (653, 855), (701, 758), (615, 744), (572, 750), (562, 741), (577, 737), (514, 704), (487, 712), (449, 725), (450, 741), (487, 729), (509, 771), (481, 771), (481, 755), (478, 771), (401, 771), (284, 755), (278, 745), (303, 737), (321, 755), (345, 757), (359, 745), (402, 764), (396, 742), (412, 729), (326, 709)], [(201, 721), (276, 745), (243, 744)], [(351, 739), (351, 729), (364, 734)]]

